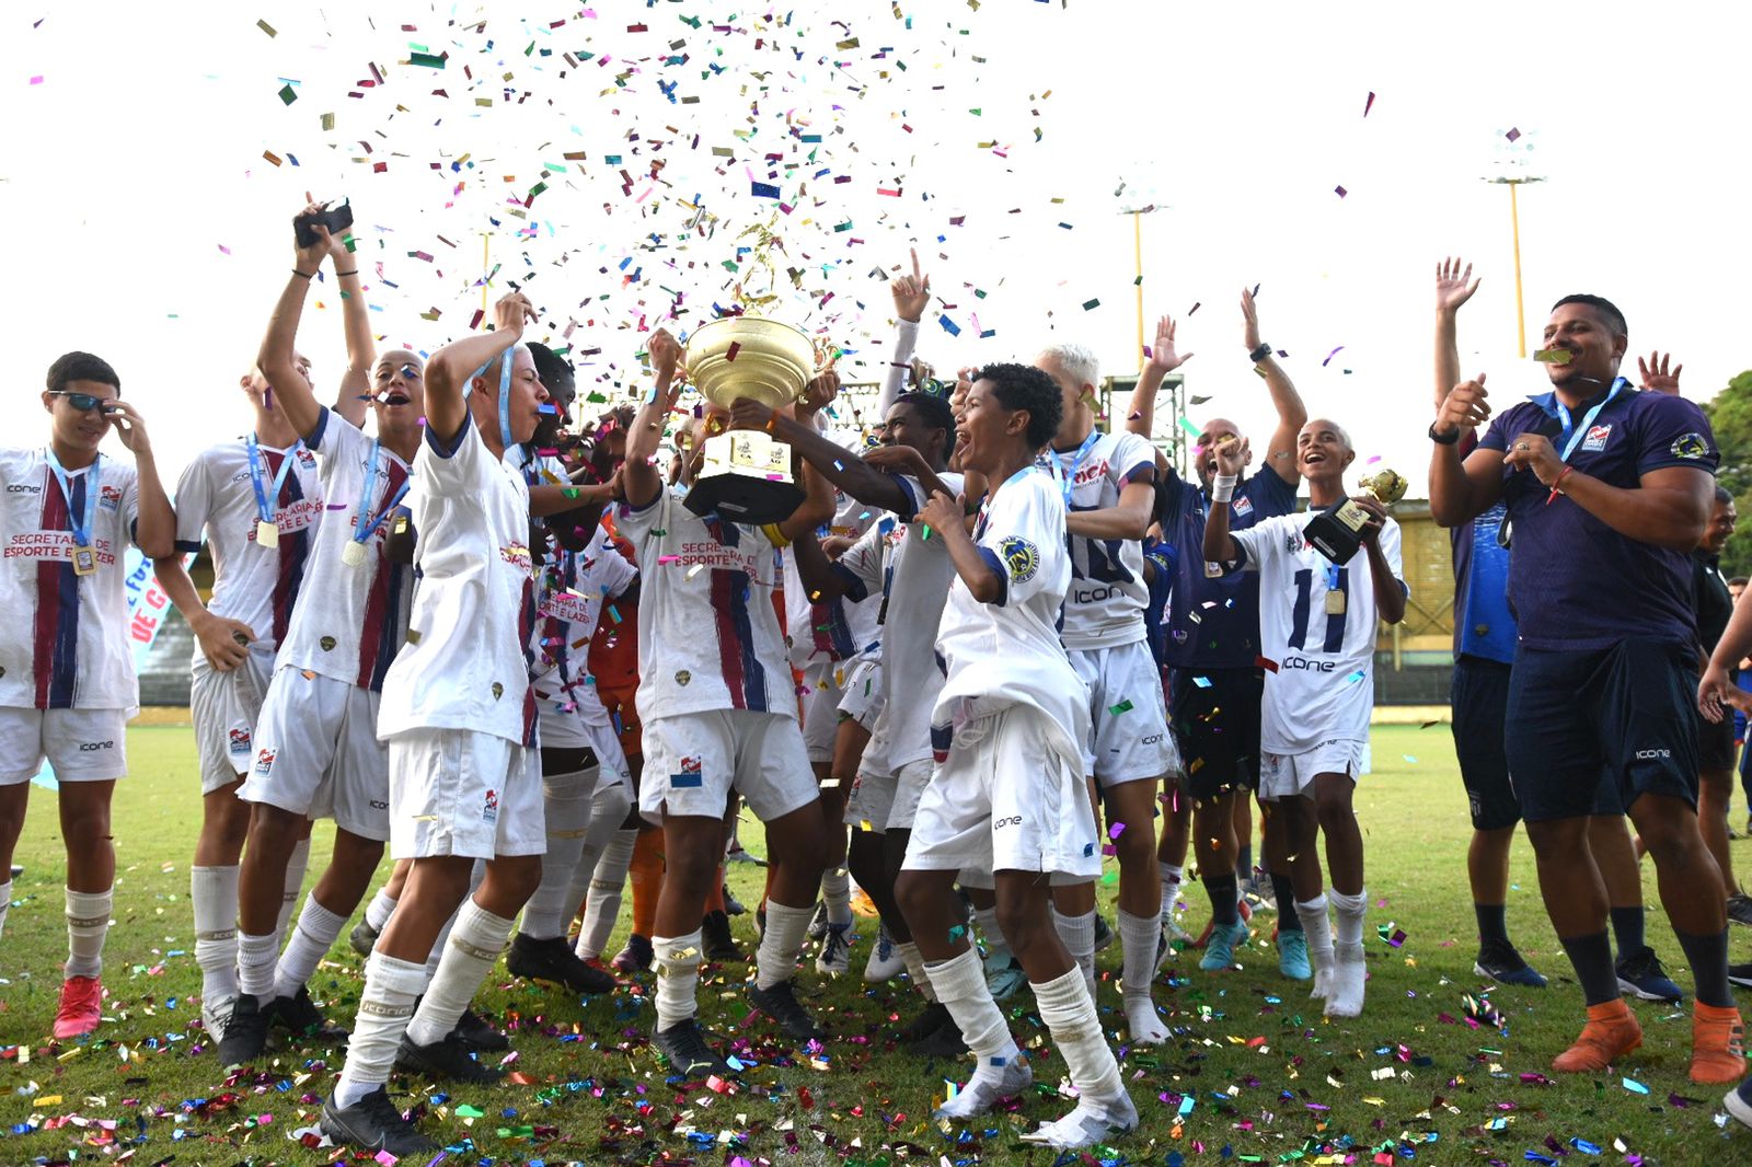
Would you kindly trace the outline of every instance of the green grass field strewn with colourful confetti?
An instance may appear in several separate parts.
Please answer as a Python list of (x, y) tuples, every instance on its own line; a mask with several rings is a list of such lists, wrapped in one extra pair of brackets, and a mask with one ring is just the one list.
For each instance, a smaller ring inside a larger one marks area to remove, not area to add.
[[(28, 871), (16, 881), (0, 941), (0, 1120), (11, 1128), (0, 1132), (0, 1162), (335, 1162), (338, 1149), (307, 1148), (294, 1135), (314, 1125), (338, 1053), (280, 1048), (258, 1072), (231, 1079), (203, 1041), (187, 904), (198, 825), (193, 743), (186, 729), (135, 729), (128, 745), (133, 776), (116, 797), (110, 1001), (95, 1039), (67, 1048), (46, 1037), (65, 955), (61, 846), (53, 796), (33, 796), (19, 846)], [(1207, 974), (1197, 953), (1177, 957), (1156, 988), (1172, 1043), (1120, 1046), (1144, 1125), (1095, 1158), (1752, 1162), (1752, 1132), (1720, 1113), (1720, 1090), (1685, 1078), (1687, 1009), (1636, 1004), (1645, 1046), (1610, 1076), (1547, 1078), (1551, 1058), (1577, 1029), (1580, 997), (1540, 908), (1524, 841), (1515, 848), (1510, 930), (1552, 987), (1494, 988), (1489, 999), (1501, 1027), (1466, 1022), (1465, 997), (1482, 987), (1472, 974), (1468, 825), (1447, 727), (1381, 727), (1374, 764), (1358, 792), (1372, 901), (1363, 1016), (1328, 1022), (1307, 1008), (1305, 988), (1277, 976), (1270, 915), (1256, 918), (1263, 930), (1242, 971)], [(319, 827), (319, 855), (328, 839)], [(757, 825), (745, 829), (745, 843), (760, 850)], [(732, 885), (750, 904), (759, 880), (752, 866), (732, 867)], [(1114, 890), (1102, 888), (1107, 913)], [(1649, 897), (1654, 902), (1652, 874)], [(1191, 899), (1197, 930), (1205, 916), (1197, 887)], [(752, 950), (750, 927), (746, 916), (738, 922)], [(1389, 936), (1403, 930), (1403, 943), (1379, 939), (1377, 927)], [(874, 932), (872, 922), (860, 929), (865, 939)], [(1659, 908), (1650, 909), (1649, 936), (1677, 964)], [(1747, 958), (1743, 934), (1734, 941), (1734, 958)], [(964, 1079), (967, 1067), (895, 1050), (897, 1020), (911, 1016), (916, 999), (904, 981), (865, 987), (857, 974), (865, 953), (860, 943), (851, 978), (825, 983), (813, 964), (802, 974), (811, 1006), (834, 1034), (818, 1058), (776, 1043), (764, 1020), (748, 1020), (743, 965), (708, 972), (703, 1022), (743, 1043), (745, 1060), (760, 1062), (725, 1093), (666, 1081), (645, 1043), (648, 980), (580, 1004), (494, 978), (477, 1004), (513, 1029), (506, 1083), (447, 1093), (398, 1076), (392, 1088), (403, 1104), (424, 1100), (424, 1125), (450, 1142), (454, 1162), (1051, 1163), (1051, 1153), (1016, 1141), (1070, 1106), (1051, 1097), (1063, 1062), (1046, 1046), (1027, 994), (1011, 1002), (1011, 1023), (1035, 1058), (1037, 1093), (1014, 1113), (944, 1132), (930, 1109), (944, 1079)], [(1100, 957), (1099, 1002), (1111, 1032), (1123, 1025), (1113, 983), (1118, 960), (1118, 944)], [(1675, 974), (1685, 983), (1684, 969)], [(359, 985), (359, 958), (343, 937), (312, 992), (349, 1023)]]

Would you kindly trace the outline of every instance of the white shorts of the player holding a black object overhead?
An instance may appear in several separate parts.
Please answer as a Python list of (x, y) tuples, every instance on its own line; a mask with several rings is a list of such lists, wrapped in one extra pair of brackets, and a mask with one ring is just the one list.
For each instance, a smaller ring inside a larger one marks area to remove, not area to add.
[(256, 762), (237, 792), (305, 818), (333, 818), (361, 839), (389, 839), (389, 748), (377, 739), (378, 694), (280, 666), (256, 720)]

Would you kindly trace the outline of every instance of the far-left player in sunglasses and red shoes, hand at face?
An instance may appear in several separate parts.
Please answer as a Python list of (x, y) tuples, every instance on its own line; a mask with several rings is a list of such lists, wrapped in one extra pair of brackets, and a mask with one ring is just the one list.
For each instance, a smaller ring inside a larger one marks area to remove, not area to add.
[[(158, 482), (140, 412), (109, 361), (67, 352), (49, 366), (46, 445), (0, 449), (5, 559), (0, 603), (0, 929), (30, 780), (54, 767), (67, 848), (67, 965), (54, 1039), (89, 1034), (103, 1013), (116, 848), (110, 797), (128, 773), (126, 725), (140, 704), (123, 594), (124, 541), (168, 555), (177, 519)], [(114, 431), (131, 464), (98, 447)]]

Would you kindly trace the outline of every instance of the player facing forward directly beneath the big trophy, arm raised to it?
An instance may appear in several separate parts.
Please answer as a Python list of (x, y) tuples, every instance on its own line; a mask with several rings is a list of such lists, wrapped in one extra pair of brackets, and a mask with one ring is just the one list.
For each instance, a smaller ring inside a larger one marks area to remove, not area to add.
[[(752, 527), (687, 510), (652, 466), (680, 394), (680, 356), (669, 333), (652, 333), (657, 385), (627, 440), (618, 527), (638, 552), (641, 576), (639, 715), (648, 764), (639, 810), (646, 818), (661, 817), (668, 860), (653, 937), (652, 1043), (678, 1074), (696, 1078), (732, 1072), (696, 1022), (699, 920), (724, 857), (724, 808), (732, 787), (766, 824), (771, 855), (767, 918), (748, 999), (799, 1043), (822, 1034), (792, 985), (822, 880), (822, 806), (795, 720), (773, 587), (776, 550), (827, 522), (834, 496), (827, 480), (804, 466), (806, 499), (783, 522)], [(708, 407), (696, 429), (724, 421), (722, 410)], [(694, 442), (683, 482), (692, 482), (703, 447)]]

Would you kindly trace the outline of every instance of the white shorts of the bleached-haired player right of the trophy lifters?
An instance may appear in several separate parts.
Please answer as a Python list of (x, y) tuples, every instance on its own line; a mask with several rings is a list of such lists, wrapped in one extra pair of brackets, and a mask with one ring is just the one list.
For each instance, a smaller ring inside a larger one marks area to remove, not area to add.
[(1072, 648), (1070, 668), (1090, 690), (1095, 739), (1083, 746), (1083, 767), (1106, 790), (1123, 782), (1156, 780), (1181, 766), (1162, 699), (1162, 669), (1149, 645)]

